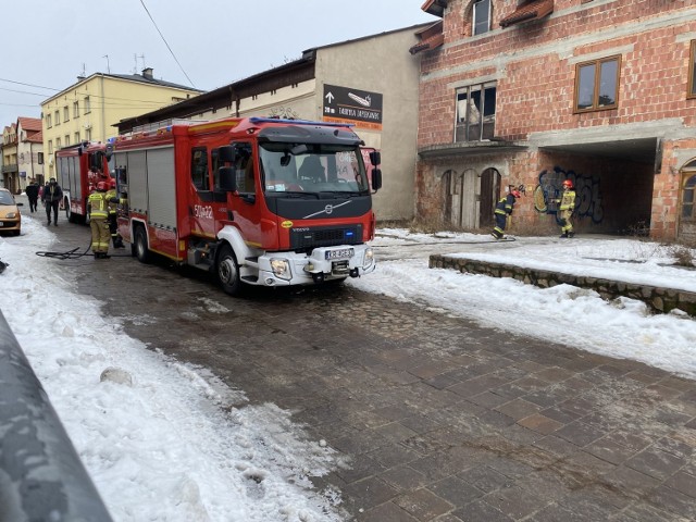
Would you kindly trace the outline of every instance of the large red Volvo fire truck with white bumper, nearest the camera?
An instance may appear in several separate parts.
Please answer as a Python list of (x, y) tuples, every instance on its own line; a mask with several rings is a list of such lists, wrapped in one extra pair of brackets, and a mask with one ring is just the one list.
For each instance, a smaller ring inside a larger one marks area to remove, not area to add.
[[(133, 254), (213, 272), (223, 289), (321, 284), (375, 269), (380, 152), (350, 125), (187, 122), (113, 142), (119, 232)], [(368, 172), (369, 171), (369, 172)]]

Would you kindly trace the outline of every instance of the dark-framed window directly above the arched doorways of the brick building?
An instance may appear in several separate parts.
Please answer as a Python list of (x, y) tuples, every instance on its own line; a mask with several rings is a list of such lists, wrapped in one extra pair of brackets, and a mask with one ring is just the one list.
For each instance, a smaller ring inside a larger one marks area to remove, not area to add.
[(496, 124), (496, 83), (471, 85), (457, 91), (455, 141), (492, 139)]

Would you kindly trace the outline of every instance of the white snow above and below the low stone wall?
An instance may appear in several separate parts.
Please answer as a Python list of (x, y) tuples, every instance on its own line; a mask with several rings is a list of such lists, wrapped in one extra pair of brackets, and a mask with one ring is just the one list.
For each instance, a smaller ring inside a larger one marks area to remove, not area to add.
[[(608, 302), (593, 290), (570, 285), (538, 288), (511, 278), (427, 268), (431, 253), (462, 254), (696, 291), (696, 270), (673, 265), (674, 246), (606, 236), (514, 239), (383, 228), (373, 241), (377, 270), (350, 283), (365, 291), (474, 319), (484, 326), (633, 359), (696, 378), (696, 323), (680, 311), (652, 314), (641, 301)], [(380, 262), (381, 252), (388, 261)], [(696, 259), (696, 250), (691, 254)]]

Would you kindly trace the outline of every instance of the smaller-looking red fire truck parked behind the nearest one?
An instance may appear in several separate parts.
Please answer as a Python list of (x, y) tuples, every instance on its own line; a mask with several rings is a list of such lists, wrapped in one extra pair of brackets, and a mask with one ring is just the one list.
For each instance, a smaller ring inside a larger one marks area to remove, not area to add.
[(71, 223), (88, 221), (87, 198), (98, 182), (109, 181), (108, 158), (107, 145), (101, 142), (84, 141), (55, 152), (55, 178), (63, 189), (62, 207)]

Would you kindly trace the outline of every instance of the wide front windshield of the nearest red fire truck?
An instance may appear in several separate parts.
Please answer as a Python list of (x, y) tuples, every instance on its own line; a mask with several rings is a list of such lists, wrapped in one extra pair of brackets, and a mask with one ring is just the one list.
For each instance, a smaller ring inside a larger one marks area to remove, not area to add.
[[(340, 146), (266, 142), (260, 146), (268, 196), (282, 192), (351, 192), (370, 190), (360, 149)], [(293, 154), (301, 150), (300, 154)]]

